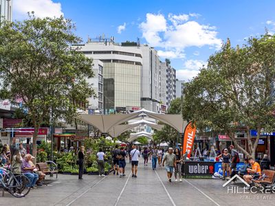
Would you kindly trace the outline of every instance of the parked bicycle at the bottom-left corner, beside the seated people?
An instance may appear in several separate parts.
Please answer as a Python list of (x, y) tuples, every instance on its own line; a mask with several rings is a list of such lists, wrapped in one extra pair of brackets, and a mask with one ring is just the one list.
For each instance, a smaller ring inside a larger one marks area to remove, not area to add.
[(0, 168), (0, 188), (12, 196), (21, 198), (30, 192), (30, 180), (23, 174), (13, 174), (15, 168)]

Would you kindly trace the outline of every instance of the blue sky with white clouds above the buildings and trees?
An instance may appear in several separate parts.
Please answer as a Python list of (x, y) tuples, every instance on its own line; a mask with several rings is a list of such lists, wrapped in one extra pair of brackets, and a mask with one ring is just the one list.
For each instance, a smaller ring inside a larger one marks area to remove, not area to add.
[[(87, 41), (104, 34), (115, 41), (148, 43), (162, 60), (170, 58), (177, 78), (188, 80), (208, 57), (230, 38), (242, 45), (248, 36), (259, 36), (265, 27), (275, 31), (275, 1), (256, 0), (14, 0), (14, 19), (59, 16), (76, 23), (76, 34)], [(120, 29), (118, 29), (120, 28)]]

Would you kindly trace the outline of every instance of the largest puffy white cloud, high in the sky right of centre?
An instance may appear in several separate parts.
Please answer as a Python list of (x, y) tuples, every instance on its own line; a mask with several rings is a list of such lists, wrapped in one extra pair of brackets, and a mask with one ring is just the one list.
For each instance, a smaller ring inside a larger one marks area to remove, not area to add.
[[(190, 18), (198, 17), (199, 14), (168, 14), (168, 18), (163, 14), (146, 14), (146, 21), (140, 24), (142, 36), (147, 43), (153, 47), (165, 49), (170, 56), (175, 51), (183, 54), (186, 47), (203, 47), (208, 45), (219, 49), (221, 39), (217, 38), (216, 27), (202, 25)], [(172, 51), (172, 52), (171, 52)], [(164, 52), (161, 52), (164, 54)], [(181, 55), (184, 56), (184, 55)], [(178, 56), (175, 56), (178, 58)]]

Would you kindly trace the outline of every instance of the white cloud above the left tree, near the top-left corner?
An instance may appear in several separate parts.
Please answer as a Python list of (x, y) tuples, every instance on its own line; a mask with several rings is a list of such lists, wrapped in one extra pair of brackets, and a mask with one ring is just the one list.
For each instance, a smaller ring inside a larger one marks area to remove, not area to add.
[(52, 0), (14, 0), (13, 18), (17, 20), (27, 19), (28, 12), (34, 12), (37, 17), (58, 17), (63, 15), (61, 3)]

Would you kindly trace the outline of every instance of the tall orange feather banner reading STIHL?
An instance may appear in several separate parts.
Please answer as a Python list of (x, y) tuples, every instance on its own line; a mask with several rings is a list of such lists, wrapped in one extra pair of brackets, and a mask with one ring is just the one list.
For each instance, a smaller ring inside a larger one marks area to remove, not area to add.
[(183, 140), (183, 154), (185, 152), (188, 152), (187, 157), (190, 158), (191, 155), (191, 151), (192, 151), (192, 146), (194, 144), (194, 140), (195, 140), (195, 134), (196, 134), (196, 126), (195, 124), (192, 125), (192, 122), (189, 122), (189, 124), (187, 124), (185, 130), (184, 130), (184, 140)]

